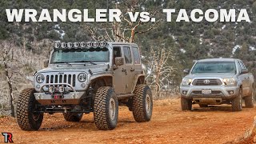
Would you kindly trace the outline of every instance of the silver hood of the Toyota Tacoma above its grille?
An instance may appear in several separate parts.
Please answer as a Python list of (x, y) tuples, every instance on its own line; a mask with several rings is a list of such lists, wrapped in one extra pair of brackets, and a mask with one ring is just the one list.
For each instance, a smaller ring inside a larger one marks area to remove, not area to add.
[(233, 78), (233, 73), (201, 73), (201, 74), (189, 74), (185, 78)]

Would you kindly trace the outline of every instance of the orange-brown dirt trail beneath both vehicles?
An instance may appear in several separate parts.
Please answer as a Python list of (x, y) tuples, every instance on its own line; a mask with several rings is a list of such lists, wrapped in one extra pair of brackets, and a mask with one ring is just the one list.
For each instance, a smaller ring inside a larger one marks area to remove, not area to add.
[(118, 127), (111, 131), (97, 130), (93, 114), (84, 114), (81, 122), (45, 114), (38, 131), (22, 131), (14, 118), (0, 118), (0, 132), (11, 132), (15, 143), (224, 143), (241, 137), (255, 115), (256, 108), (232, 112), (230, 106), (184, 112), (178, 99), (168, 99), (154, 102), (146, 123), (135, 122), (128, 108), (120, 107)]

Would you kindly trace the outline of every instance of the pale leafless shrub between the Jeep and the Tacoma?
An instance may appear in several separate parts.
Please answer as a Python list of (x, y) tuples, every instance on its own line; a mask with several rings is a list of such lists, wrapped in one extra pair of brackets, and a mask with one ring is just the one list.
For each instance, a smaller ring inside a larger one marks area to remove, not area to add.
[(147, 76), (150, 86), (154, 87), (156, 97), (160, 97), (160, 90), (167, 88), (172, 83), (171, 76), (174, 67), (170, 66), (169, 60), (174, 60), (171, 50), (165, 48), (159, 50), (151, 50), (150, 58), (147, 60)]

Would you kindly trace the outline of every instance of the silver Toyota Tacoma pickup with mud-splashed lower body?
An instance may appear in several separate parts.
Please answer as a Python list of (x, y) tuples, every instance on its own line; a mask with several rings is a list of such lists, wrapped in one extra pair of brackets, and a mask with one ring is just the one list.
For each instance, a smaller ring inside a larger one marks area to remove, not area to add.
[(192, 110), (192, 104), (231, 104), (233, 111), (242, 110), (242, 100), (254, 107), (254, 76), (239, 59), (209, 58), (198, 60), (180, 85), (182, 110)]

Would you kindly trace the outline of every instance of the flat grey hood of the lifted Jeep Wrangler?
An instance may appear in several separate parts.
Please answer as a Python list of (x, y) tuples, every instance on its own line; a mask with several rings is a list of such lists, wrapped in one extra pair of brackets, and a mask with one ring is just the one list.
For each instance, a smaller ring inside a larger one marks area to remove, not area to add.
[(50, 66), (46, 69), (38, 70), (38, 73), (50, 73), (50, 72), (88, 72), (91, 70), (93, 73), (106, 71), (109, 69), (109, 65), (71, 65), (71, 66)]

